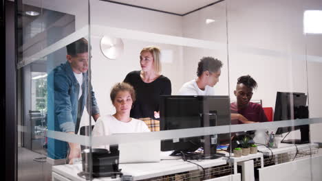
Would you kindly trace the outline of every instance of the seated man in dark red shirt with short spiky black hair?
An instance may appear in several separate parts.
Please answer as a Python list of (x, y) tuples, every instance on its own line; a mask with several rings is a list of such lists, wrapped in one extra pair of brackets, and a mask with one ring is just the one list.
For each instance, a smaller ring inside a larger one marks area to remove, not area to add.
[(255, 88), (257, 88), (257, 82), (250, 75), (238, 78), (236, 90), (234, 90), (237, 103), (230, 104), (231, 124), (268, 121), (261, 105), (250, 102)]

